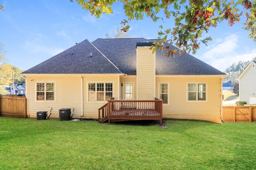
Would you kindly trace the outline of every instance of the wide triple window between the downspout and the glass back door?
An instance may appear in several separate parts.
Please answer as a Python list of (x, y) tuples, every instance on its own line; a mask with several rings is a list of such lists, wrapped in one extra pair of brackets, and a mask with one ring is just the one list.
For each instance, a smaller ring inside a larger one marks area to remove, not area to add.
[(113, 97), (113, 83), (88, 83), (88, 101), (107, 101)]

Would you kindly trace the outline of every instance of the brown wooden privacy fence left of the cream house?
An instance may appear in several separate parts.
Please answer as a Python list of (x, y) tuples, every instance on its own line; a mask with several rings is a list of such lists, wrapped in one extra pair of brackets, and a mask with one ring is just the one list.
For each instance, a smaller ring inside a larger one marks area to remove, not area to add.
[(26, 97), (0, 95), (0, 116), (26, 118)]

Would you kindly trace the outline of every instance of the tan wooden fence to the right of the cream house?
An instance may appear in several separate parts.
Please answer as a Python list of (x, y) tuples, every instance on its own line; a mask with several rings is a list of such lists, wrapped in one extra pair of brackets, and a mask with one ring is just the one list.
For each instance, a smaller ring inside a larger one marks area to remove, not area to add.
[(223, 106), (222, 118), (226, 122), (256, 121), (256, 106)]

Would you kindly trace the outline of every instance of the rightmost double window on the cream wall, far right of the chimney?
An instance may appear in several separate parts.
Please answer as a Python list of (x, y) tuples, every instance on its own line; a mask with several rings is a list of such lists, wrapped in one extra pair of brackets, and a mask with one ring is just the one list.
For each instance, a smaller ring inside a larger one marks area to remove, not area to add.
[(187, 86), (188, 101), (206, 101), (206, 83), (188, 83)]

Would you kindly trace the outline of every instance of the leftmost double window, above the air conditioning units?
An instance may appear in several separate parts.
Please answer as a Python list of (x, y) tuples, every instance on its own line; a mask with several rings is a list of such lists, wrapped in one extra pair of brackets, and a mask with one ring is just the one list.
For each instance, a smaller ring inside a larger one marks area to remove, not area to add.
[(54, 101), (54, 83), (36, 83), (37, 101)]

